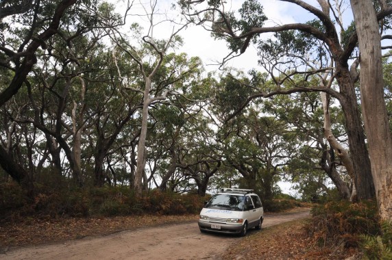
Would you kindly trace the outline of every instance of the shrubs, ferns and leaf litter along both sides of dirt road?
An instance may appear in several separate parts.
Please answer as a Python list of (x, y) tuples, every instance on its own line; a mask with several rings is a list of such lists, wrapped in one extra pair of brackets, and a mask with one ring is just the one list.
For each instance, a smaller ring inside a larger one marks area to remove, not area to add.
[[(50, 189), (28, 200), (17, 183), (0, 186), (0, 251), (62, 242), (145, 226), (196, 222), (209, 196), (127, 187)], [(391, 259), (391, 225), (380, 224), (376, 202), (320, 198), (304, 203), (280, 194), (266, 214), (311, 208), (311, 218), (251, 232), (221, 259)]]

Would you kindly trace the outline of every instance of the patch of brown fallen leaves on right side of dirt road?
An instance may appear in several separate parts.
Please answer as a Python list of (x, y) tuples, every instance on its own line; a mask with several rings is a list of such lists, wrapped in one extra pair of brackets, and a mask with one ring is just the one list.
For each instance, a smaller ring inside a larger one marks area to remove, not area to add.
[(271, 226), (247, 235), (228, 248), (219, 260), (360, 259), (356, 248), (320, 247), (306, 234), (306, 220)]

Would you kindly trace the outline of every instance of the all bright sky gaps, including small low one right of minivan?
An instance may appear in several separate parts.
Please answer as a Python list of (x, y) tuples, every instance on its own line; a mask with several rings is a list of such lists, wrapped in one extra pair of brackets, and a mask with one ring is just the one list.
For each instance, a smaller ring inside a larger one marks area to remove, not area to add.
[[(127, 0), (112, 1), (115, 3), (118, 12), (123, 14)], [(152, 34), (156, 39), (167, 39), (173, 31), (176, 31), (185, 23), (184, 18), (180, 14), (180, 9), (173, 8), (175, 0), (158, 1), (156, 6), (152, 5), (153, 2), (152, 0), (134, 1), (127, 17), (127, 24), (138, 23), (144, 29), (143, 34), (147, 35), (150, 25), (147, 14), (151, 14), (151, 10), (154, 8), (154, 21), (152, 23), (155, 26), (152, 29)], [(275, 25), (299, 23), (312, 19), (310, 14), (303, 9), (295, 8), (295, 5), (291, 3), (271, 0), (260, 0), (260, 2), (269, 18), (269, 21), (265, 24), (266, 26), (273, 27)], [(315, 6), (318, 5), (316, 0), (306, 2)], [(225, 6), (230, 10), (238, 10), (242, 4), (243, 1), (241, 0), (229, 0), (226, 1)], [(346, 12), (351, 14), (351, 10), (346, 10)], [(175, 21), (175, 23), (171, 23), (169, 20)], [(210, 32), (201, 26), (189, 25), (186, 29), (180, 31), (179, 35), (182, 36), (184, 45), (180, 47), (178, 52), (187, 53), (189, 57), (200, 57), (207, 71), (219, 70), (219, 63), (230, 53), (224, 40), (215, 40)], [(272, 34), (262, 35), (263, 38), (271, 36)], [(225, 67), (237, 68), (245, 71), (245, 73), (252, 68), (262, 69), (258, 66), (256, 48), (252, 46), (243, 55), (229, 60)], [(281, 181), (279, 185), (285, 193), (295, 196), (291, 190), (291, 183)]]

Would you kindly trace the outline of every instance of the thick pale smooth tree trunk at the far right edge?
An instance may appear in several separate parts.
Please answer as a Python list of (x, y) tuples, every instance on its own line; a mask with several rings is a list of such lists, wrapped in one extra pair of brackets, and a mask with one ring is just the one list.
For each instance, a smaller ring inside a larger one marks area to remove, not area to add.
[(360, 99), (381, 220), (392, 220), (392, 139), (384, 101), (381, 38), (369, 0), (351, 0), (360, 50)]

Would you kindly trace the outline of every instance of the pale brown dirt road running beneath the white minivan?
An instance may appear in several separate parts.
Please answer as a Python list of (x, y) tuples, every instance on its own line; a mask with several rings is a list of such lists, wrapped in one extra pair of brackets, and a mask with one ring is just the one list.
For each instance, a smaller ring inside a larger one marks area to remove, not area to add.
[[(309, 211), (266, 215), (263, 227), (306, 218)], [(249, 231), (248, 235), (253, 232)], [(262, 232), (262, 231), (261, 231)], [(123, 231), (103, 237), (85, 237), (63, 244), (10, 250), (0, 259), (215, 259), (241, 237), (200, 233), (197, 222)]]

